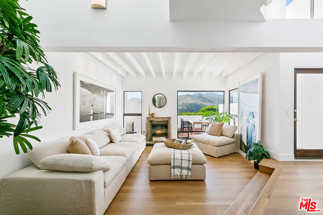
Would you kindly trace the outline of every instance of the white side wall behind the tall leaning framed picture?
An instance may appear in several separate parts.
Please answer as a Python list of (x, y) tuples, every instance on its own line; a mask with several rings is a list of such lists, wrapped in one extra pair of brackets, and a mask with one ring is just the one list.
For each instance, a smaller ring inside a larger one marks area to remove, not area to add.
[[(239, 82), (256, 74), (263, 74), (261, 143), (270, 155), (279, 158), (279, 54), (266, 53), (226, 76), (226, 90), (238, 87)], [(226, 91), (226, 92), (227, 92)], [(228, 110), (228, 98), (226, 110)]]

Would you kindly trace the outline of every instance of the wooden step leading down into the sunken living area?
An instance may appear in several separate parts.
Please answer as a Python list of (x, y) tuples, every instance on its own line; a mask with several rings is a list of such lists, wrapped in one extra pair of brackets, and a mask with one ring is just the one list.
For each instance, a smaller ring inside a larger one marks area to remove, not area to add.
[(267, 165), (268, 159), (259, 163), (259, 171), (234, 200), (224, 215), (261, 215), (280, 176), (281, 168)]

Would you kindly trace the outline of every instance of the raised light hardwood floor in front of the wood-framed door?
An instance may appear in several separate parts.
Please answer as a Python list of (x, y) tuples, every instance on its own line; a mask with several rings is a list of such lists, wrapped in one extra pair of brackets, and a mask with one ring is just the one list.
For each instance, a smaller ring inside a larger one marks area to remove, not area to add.
[(264, 215), (308, 214), (305, 210), (298, 210), (300, 198), (313, 198), (312, 201), (318, 201), (317, 209), (323, 210), (323, 161), (270, 159), (267, 164), (281, 167), (283, 170)]

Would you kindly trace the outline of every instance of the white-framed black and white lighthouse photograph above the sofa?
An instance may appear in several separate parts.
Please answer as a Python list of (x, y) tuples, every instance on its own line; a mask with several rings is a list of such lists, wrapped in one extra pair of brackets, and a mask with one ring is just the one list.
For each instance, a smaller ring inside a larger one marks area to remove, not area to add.
[(74, 73), (74, 130), (115, 121), (115, 87)]

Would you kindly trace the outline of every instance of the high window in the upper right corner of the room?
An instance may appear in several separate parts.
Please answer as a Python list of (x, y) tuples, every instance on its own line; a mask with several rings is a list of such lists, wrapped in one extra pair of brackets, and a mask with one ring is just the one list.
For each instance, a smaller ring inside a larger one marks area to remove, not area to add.
[(323, 18), (323, 0), (286, 0), (286, 18)]

